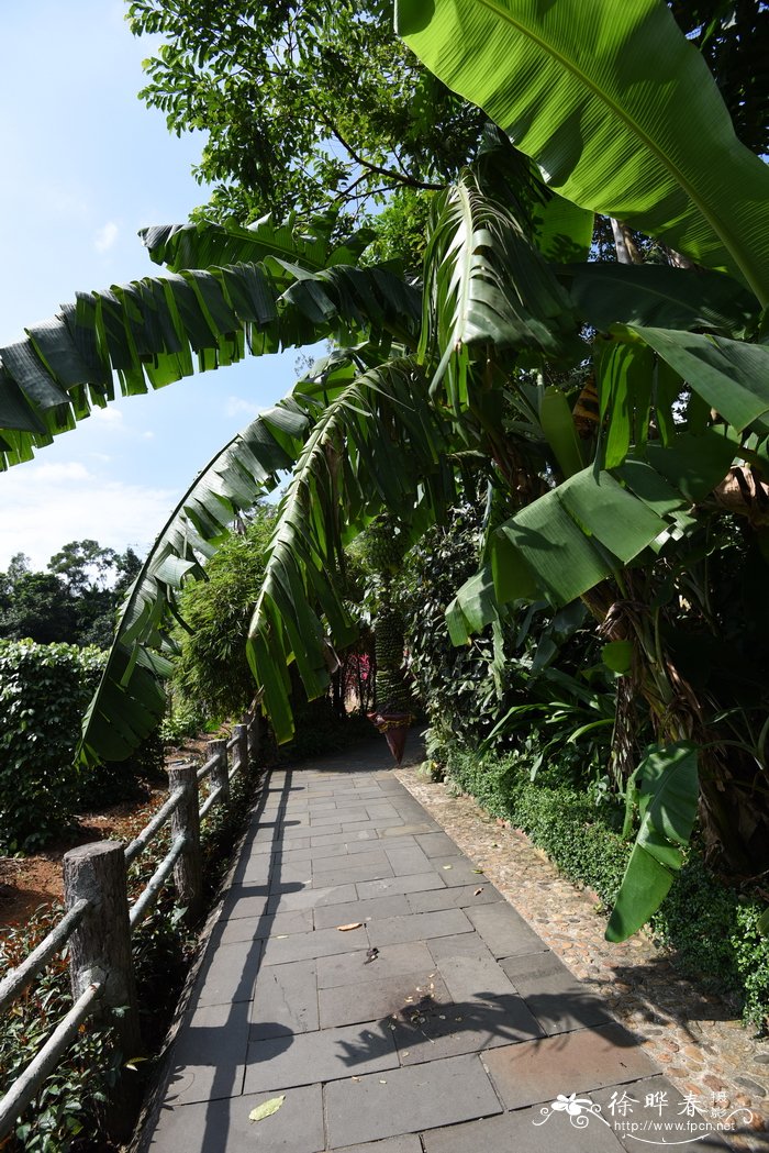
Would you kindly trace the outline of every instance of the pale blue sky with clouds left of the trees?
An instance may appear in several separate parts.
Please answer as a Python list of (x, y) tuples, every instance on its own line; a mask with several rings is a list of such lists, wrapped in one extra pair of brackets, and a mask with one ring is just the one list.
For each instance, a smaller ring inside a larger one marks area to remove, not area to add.
[[(137, 231), (205, 201), (202, 137), (178, 140), (136, 97), (151, 43), (121, 0), (3, 5), (0, 35), (0, 345), (78, 289), (157, 271)], [(68, 541), (146, 549), (195, 473), (288, 391), (296, 353), (119, 400), (0, 474), (0, 570)]]

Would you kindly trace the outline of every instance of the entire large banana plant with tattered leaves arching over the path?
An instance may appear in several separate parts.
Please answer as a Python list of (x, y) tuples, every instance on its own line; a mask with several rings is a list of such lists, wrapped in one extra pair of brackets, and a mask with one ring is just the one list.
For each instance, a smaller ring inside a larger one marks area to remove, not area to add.
[[(13, 398), (20, 414), (3, 432), (7, 454), (23, 458), (71, 420), (62, 384), (81, 409), (83, 382), (106, 402), (111, 363), (126, 391), (141, 391), (144, 372), (154, 384), (191, 371), (193, 348), (205, 368), (247, 345), (259, 354), (309, 333), (333, 337), (337, 351), (217, 455), (160, 534), (127, 601), (86, 747), (125, 755), (157, 717), (181, 586), (203, 575), (201, 555), (282, 469), (293, 475), (249, 661), (284, 739), (287, 665), (317, 695), (333, 663), (330, 640), (352, 635), (339, 581), (345, 544), (384, 508), (417, 536), (453, 502), (458, 475), (480, 472), (519, 511), (490, 534), (489, 564), (452, 608), (455, 641), (508, 602), (558, 606), (581, 596), (620, 645), (615, 662), (618, 653), (635, 662), (658, 726), (612, 924), (626, 934), (680, 864), (698, 796), (693, 738), (702, 737), (653, 615), (631, 611), (633, 591), (665, 570), (683, 588), (689, 542), (703, 520), (722, 515), (709, 493), (736, 460), (764, 483), (769, 352), (748, 341), (769, 295), (767, 171), (736, 140), (701, 58), (655, 0), (621, 9), (604, 0), (589, 12), (576, 0), (546, 8), (521, 0), (504, 12), (477, 0), (433, 7), (429, 16), (422, 5), (400, 5), (409, 45), (484, 103), (519, 151), (497, 140), (436, 197), (422, 324), (413, 286), (389, 269), (353, 266), (360, 236), (334, 247), (267, 223), (156, 229), (146, 238), (152, 255), (178, 276), (82, 296), (58, 325), (30, 330), (32, 355), (39, 347), (48, 369), (36, 376), (51, 382), (47, 406), (40, 386), (30, 397), (20, 382), (30, 346), (24, 355), (2, 351), (6, 406)], [(590, 133), (575, 130), (582, 122)], [(528, 155), (568, 198), (542, 184)], [(703, 271), (575, 263), (587, 255), (595, 209)], [(596, 333), (589, 345), (586, 331)], [(598, 410), (583, 442), (572, 405), (586, 376)], [(111, 724), (116, 714), (120, 729)], [(710, 758), (702, 776), (714, 808), (724, 785), (718, 763)]]

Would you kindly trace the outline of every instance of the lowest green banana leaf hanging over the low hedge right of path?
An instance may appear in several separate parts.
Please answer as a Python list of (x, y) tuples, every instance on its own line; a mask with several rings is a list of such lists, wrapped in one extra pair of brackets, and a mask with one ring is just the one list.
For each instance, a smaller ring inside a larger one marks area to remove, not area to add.
[(641, 826), (606, 926), (626, 941), (659, 907), (684, 862), (699, 798), (698, 749), (689, 741), (651, 748), (633, 774)]

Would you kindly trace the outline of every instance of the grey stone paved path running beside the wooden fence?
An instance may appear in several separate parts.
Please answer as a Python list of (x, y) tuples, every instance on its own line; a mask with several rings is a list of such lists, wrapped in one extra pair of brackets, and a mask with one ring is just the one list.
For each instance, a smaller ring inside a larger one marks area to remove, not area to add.
[(384, 741), (272, 773), (161, 1098), (152, 1153), (616, 1153), (663, 1144), (648, 1125), (665, 1122), (668, 1143), (726, 1147), (681, 1129), (680, 1093), (394, 778)]

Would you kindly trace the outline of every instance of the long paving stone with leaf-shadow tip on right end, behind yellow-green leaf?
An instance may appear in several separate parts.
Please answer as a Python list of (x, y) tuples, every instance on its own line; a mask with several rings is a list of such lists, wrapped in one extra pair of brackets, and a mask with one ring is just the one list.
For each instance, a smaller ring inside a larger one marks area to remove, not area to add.
[(398, 1065), (392, 1033), (383, 1025), (348, 1025), (299, 1033), (291, 1038), (288, 1047), (285, 1040), (276, 1037), (249, 1045), (246, 1093), (342, 1077), (349, 1080), (365, 1073), (384, 1073)]

